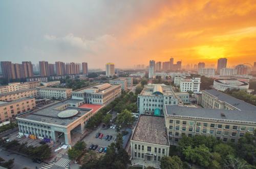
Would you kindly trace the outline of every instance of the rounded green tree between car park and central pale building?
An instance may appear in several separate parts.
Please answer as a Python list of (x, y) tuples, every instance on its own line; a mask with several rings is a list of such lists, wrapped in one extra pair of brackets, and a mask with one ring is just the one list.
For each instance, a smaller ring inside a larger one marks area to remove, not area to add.
[(134, 122), (134, 117), (131, 111), (124, 109), (120, 114), (117, 115), (116, 123), (118, 126), (127, 127)]

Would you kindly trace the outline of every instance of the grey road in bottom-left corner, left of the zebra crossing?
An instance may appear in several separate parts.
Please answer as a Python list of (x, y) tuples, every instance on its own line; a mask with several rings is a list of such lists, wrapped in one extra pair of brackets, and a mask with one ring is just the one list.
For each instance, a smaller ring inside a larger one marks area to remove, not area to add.
[(42, 165), (44, 165), (45, 163), (35, 163), (33, 162), (30, 158), (24, 157), (22, 155), (17, 155), (14, 153), (10, 153), (8, 151), (2, 150), (0, 151), (0, 156), (2, 158), (4, 158), (6, 161), (9, 159), (13, 159), (14, 158), (14, 167), (12, 169), (22, 169), (24, 167), (27, 168), (35, 168), (36, 166), (38, 168), (40, 168)]

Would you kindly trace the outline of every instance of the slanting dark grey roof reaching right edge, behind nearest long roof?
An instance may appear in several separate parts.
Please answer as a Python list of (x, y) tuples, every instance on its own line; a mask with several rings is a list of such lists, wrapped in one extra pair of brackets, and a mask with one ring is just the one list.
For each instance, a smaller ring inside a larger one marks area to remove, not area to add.
[(215, 90), (215, 89), (210, 89), (210, 90), (204, 90), (205, 92), (215, 96), (220, 100), (221, 102), (226, 102), (240, 110), (245, 110), (245, 111), (256, 111), (256, 106), (253, 106), (249, 103), (246, 103), (244, 101), (241, 101), (239, 99), (236, 99), (228, 94), (225, 94), (221, 91)]

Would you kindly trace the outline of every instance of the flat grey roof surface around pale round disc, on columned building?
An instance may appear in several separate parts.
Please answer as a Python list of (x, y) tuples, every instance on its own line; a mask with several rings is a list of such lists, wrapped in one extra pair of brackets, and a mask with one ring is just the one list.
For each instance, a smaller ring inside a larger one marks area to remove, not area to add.
[[(76, 100), (76, 101), (78, 102), (81, 100)], [(60, 101), (58, 103), (49, 105), (47, 107), (32, 111), (28, 114), (18, 116), (18, 118), (24, 118), (25, 120), (30, 119), (30, 120), (35, 120), (37, 122), (44, 122), (44, 123), (49, 123), (54, 125), (68, 126), (69, 124), (73, 123), (76, 119), (80, 118), (82, 115), (87, 114), (89, 111), (91, 111), (91, 109), (89, 108), (78, 108), (78, 107), (67, 107), (64, 110), (57, 109), (60, 106), (64, 106), (66, 104), (74, 103), (74, 102), (75, 100), (72, 100), (72, 99)], [(78, 110), (79, 113), (70, 118), (59, 118), (58, 113), (66, 110)]]

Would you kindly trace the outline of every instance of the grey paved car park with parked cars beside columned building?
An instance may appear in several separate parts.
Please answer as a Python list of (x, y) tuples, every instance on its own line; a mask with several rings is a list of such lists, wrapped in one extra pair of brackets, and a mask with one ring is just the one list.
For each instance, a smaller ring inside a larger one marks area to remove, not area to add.
[[(102, 133), (103, 137), (95, 138), (98, 133)], [(105, 140), (106, 135), (112, 135), (112, 139), (110, 141)], [(94, 131), (92, 131), (88, 136), (86, 136), (83, 141), (87, 143), (87, 148), (90, 147), (91, 144), (97, 144), (99, 147), (96, 149), (98, 151), (102, 147), (108, 147), (113, 141), (116, 139), (117, 132), (115, 129), (106, 129), (102, 128), (102, 124)]]

